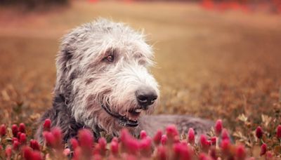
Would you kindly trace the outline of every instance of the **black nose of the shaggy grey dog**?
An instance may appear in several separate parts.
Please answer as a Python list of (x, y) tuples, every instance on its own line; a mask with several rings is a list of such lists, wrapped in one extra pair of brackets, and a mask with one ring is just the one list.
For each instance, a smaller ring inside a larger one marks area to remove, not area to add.
[(148, 109), (148, 106), (152, 105), (157, 99), (157, 93), (150, 87), (143, 87), (136, 91), (136, 99), (143, 109)]

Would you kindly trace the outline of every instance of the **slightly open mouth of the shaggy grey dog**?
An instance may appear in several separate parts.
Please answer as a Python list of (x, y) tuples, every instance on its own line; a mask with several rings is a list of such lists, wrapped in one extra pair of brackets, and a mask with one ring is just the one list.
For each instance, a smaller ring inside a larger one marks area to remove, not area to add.
[(107, 114), (110, 114), (110, 116), (117, 119), (120, 125), (128, 126), (128, 127), (138, 126), (138, 117), (141, 115), (141, 112), (143, 111), (143, 109), (131, 109), (128, 112), (126, 112), (125, 115), (121, 115), (112, 112), (106, 105), (101, 105), (101, 107), (105, 110), (105, 112), (107, 112)]

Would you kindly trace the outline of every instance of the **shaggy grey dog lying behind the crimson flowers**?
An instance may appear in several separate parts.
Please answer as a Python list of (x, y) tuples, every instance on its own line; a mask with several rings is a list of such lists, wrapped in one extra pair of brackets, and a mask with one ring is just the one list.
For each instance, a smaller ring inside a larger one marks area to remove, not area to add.
[(130, 27), (98, 19), (81, 25), (63, 37), (56, 61), (57, 79), (53, 107), (40, 120), (37, 139), (42, 142), (42, 124), (63, 131), (65, 142), (79, 128), (89, 128), (96, 138), (100, 132), (118, 136), (122, 128), (138, 136), (145, 130), (153, 135), (168, 124), (180, 133), (195, 129), (204, 133), (211, 121), (190, 116), (148, 116), (157, 106), (157, 81), (148, 68), (153, 52), (143, 34)]

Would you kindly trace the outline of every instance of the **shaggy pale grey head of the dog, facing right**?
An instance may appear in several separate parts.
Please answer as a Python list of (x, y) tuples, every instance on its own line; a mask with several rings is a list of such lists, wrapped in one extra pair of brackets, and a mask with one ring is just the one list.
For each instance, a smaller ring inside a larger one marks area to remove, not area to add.
[(159, 90), (148, 68), (153, 53), (143, 34), (99, 19), (64, 36), (57, 59), (55, 94), (72, 116), (109, 133), (138, 126), (157, 105)]

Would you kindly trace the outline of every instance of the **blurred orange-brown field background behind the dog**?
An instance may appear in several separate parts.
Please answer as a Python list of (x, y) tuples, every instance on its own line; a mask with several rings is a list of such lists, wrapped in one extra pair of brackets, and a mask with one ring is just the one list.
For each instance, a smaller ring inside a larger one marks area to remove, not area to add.
[(155, 114), (280, 116), (281, 1), (0, 1), (0, 124), (51, 107), (60, 37), (98, 17), (145, 29), (161, 86)]

